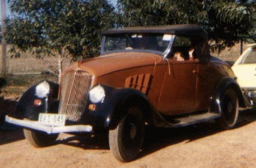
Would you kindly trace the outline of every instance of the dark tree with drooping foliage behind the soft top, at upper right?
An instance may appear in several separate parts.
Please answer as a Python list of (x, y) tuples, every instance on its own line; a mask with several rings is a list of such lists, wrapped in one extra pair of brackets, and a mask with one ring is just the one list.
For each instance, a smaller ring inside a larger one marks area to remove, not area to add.
[(125, 26), (194, 23), (208, 33), (212, 48), (231, 47), (253, 29), (252, 0), (118, 0)]

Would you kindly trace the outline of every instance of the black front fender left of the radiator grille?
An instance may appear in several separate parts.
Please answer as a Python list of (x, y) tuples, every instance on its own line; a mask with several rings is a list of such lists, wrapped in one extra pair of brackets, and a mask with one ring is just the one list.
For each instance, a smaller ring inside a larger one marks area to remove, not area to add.
[[(40, 112), (57, 113), (59, 102), (57, 100), (59, 85), (57, 83), (46, 81), (50, 85), (50, 92), (46, 98), (38, 98), (35, 94), (36, 84), (27, 89), (17, 102), (13, 117), (18, 119), (28, 118), (37, 120)], [(34, 105), (34, 100), (40, 99), (42, 104)]]

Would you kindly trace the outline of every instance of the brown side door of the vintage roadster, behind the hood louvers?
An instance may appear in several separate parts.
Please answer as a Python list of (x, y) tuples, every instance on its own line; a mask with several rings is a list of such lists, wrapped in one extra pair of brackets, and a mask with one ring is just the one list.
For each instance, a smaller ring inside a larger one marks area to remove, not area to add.
[(168, 59), (168, 68), (158, 101), (158, 111), (178, 115), (194, 111), (198, 60)]

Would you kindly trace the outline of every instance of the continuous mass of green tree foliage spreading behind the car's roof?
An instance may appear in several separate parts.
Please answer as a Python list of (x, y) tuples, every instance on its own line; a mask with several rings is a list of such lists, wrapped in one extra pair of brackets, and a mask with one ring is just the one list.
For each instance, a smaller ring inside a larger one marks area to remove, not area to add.
[(195, 23), (219, 50), (256, 33), (256, 0), (118, 0), (118, 12), (107, 0), (9, 0), (9, 6), (17, 15), (7, 20), (4, 37), (15, 56), (27, 50), (38, 57), (98, 56), (100, 31), (120, 26)]

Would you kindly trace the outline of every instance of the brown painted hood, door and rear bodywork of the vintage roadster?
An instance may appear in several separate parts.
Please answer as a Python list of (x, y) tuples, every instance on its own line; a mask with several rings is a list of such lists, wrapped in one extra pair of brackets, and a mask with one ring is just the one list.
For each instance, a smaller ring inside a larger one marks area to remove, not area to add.
[(140, 90), (165, 115), (208, 110), (218, 82), (226, 76), (235, 77), (229, 65), (219, 59), (203, 63), (199, 59), (167, 59), (154, 53), (110, 53), (79, 61), (72, 68), (90, 72), (92, 86), (100, 83)]

